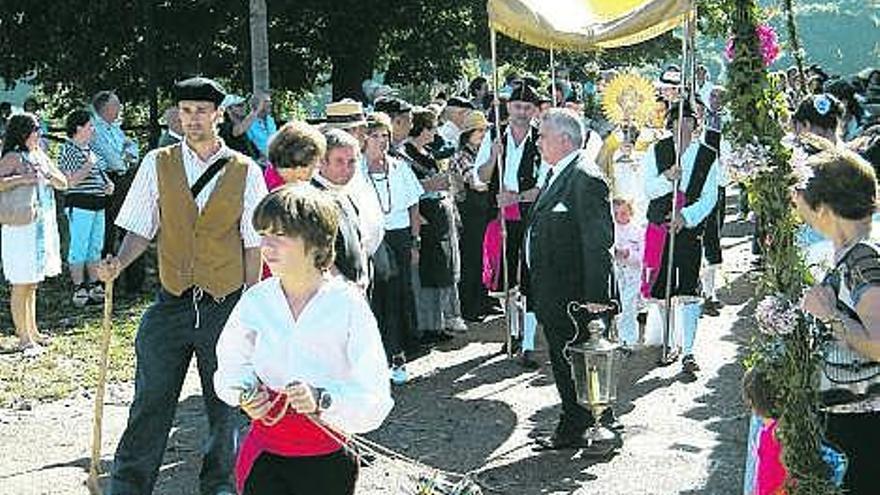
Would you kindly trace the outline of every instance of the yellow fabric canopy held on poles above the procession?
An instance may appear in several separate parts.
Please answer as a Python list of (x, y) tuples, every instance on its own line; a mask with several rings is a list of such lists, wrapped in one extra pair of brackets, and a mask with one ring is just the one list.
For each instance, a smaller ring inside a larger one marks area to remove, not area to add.
[(488, 0), (492, 29), (540, 48), (634, 45), (681, 23), (692, 0)]

